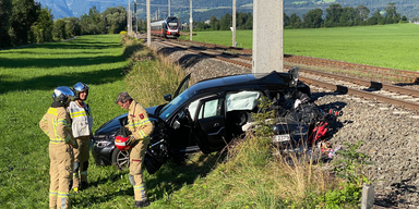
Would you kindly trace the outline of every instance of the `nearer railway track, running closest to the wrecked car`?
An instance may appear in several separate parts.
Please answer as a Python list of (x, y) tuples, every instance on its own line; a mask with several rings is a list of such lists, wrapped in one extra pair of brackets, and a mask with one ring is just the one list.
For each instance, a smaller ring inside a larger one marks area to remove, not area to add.
[[(252, 67), (252, 58), (248, 53), (229, 53), (225, 50), (230, 47), (220, 47), (216, 45), (191, 46), (184, 45), (183, 41), (167, 41), (159, 42), (169, 47), (176, 47), (190, 52), (223, 60), (229, 63), (238, 64), (244, 67)], [(314, 62), (314, 61), (312, 61)], [(284, 65), (285, 69), (290, 69), (291, 65)], [(372, 82), (361, 78), (348, 77), (338, 74), (325, 73), (310, 69), (300, 69), (300, 79), (309, 85), (326, 88), (340, 94), (349, 94), (361, 98), (378, 100), (380, 102), (392, 103), (396, 107), (407, 108), (419, 112), (419, 90), (412, 88), (388, 85), (379, 82)]]

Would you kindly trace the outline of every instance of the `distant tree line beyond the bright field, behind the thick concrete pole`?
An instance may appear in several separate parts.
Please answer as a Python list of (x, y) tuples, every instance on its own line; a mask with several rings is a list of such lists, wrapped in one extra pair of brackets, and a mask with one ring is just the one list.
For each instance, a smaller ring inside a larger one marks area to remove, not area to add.
[[(390, 2), (383, 10), (376, 9), (370, 16), (370, 10), (364, 5), (357, 8), (342, 7), (338, 3), (331, 4), (323, 15), (323, 10), (310, 10), (302, 19), (297, 14), (288, 16), (284, 13), (284, 28), (319, 28), (319, 27), (347, 27), (364, 25), (384, 25), (407, 22), (407, 17), (396, 12), (396, 4)], [(385, 13), (382, 15), (382, 13)], [(325, 16), (323, 19), (323, 16)], [(253, 16), (249, 13), (236, 14), (237, 29), (252, 29)], [(212, 16), (210, 23), (194, 22), (196, 30), (229, 30), (232, 25), (231, 14), (226, 13), (220, 20)]]

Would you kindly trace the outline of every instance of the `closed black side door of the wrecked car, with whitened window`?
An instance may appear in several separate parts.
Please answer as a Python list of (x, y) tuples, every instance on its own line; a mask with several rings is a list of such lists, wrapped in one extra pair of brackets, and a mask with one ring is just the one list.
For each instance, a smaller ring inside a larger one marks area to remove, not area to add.
[(193, 137), (204, 153), (226, 146), (225, 96), (215, 96), (200, 101), (193, 125)]

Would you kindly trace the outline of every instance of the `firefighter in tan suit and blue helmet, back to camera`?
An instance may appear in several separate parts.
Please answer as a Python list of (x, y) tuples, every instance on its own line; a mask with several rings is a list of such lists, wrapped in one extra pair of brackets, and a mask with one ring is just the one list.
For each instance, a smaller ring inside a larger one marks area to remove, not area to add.
[(71, 134), (70, 115), (65, 111), (74, 93), (67, 86), (53, 90), (53, 102), (39, 121), (39, 127), (49, 137), (49, 208), (70, 207), (69, 190), (73, 169), (74, 140)]

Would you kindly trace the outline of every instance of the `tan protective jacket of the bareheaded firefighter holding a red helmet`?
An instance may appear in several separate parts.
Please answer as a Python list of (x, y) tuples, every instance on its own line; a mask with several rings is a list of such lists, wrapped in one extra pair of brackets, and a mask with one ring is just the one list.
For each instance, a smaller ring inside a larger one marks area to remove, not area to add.
[(135, 100), (132, 100), (129, 107), (127, 128), (131, 131), (135, 139), (144, 139), (153, 132), (153, 123), (149, 121), (147, 112)]

